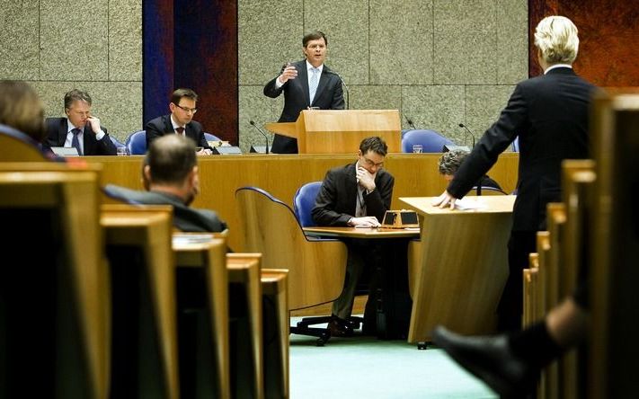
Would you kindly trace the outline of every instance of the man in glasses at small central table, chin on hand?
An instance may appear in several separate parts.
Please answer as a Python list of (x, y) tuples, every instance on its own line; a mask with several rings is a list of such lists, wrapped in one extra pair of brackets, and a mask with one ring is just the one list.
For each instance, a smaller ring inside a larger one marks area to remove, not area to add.
[[(383, 169), (387, 151), (380, 137), (364, 138), (356, 162), (326, 173), (312, 212), (317, 226), (380, 226), (395, 184), (395, 178)], [(351, 239), (346, 244), (346, 281), (342, 294), (333, 302), (333, 321), (328, 326), (332, 336), (352, 334), (346, 318), (351, 316), (359, 277), (364, 265), (372, 267), (381, 255), (379, 245), (367, 240)]]

